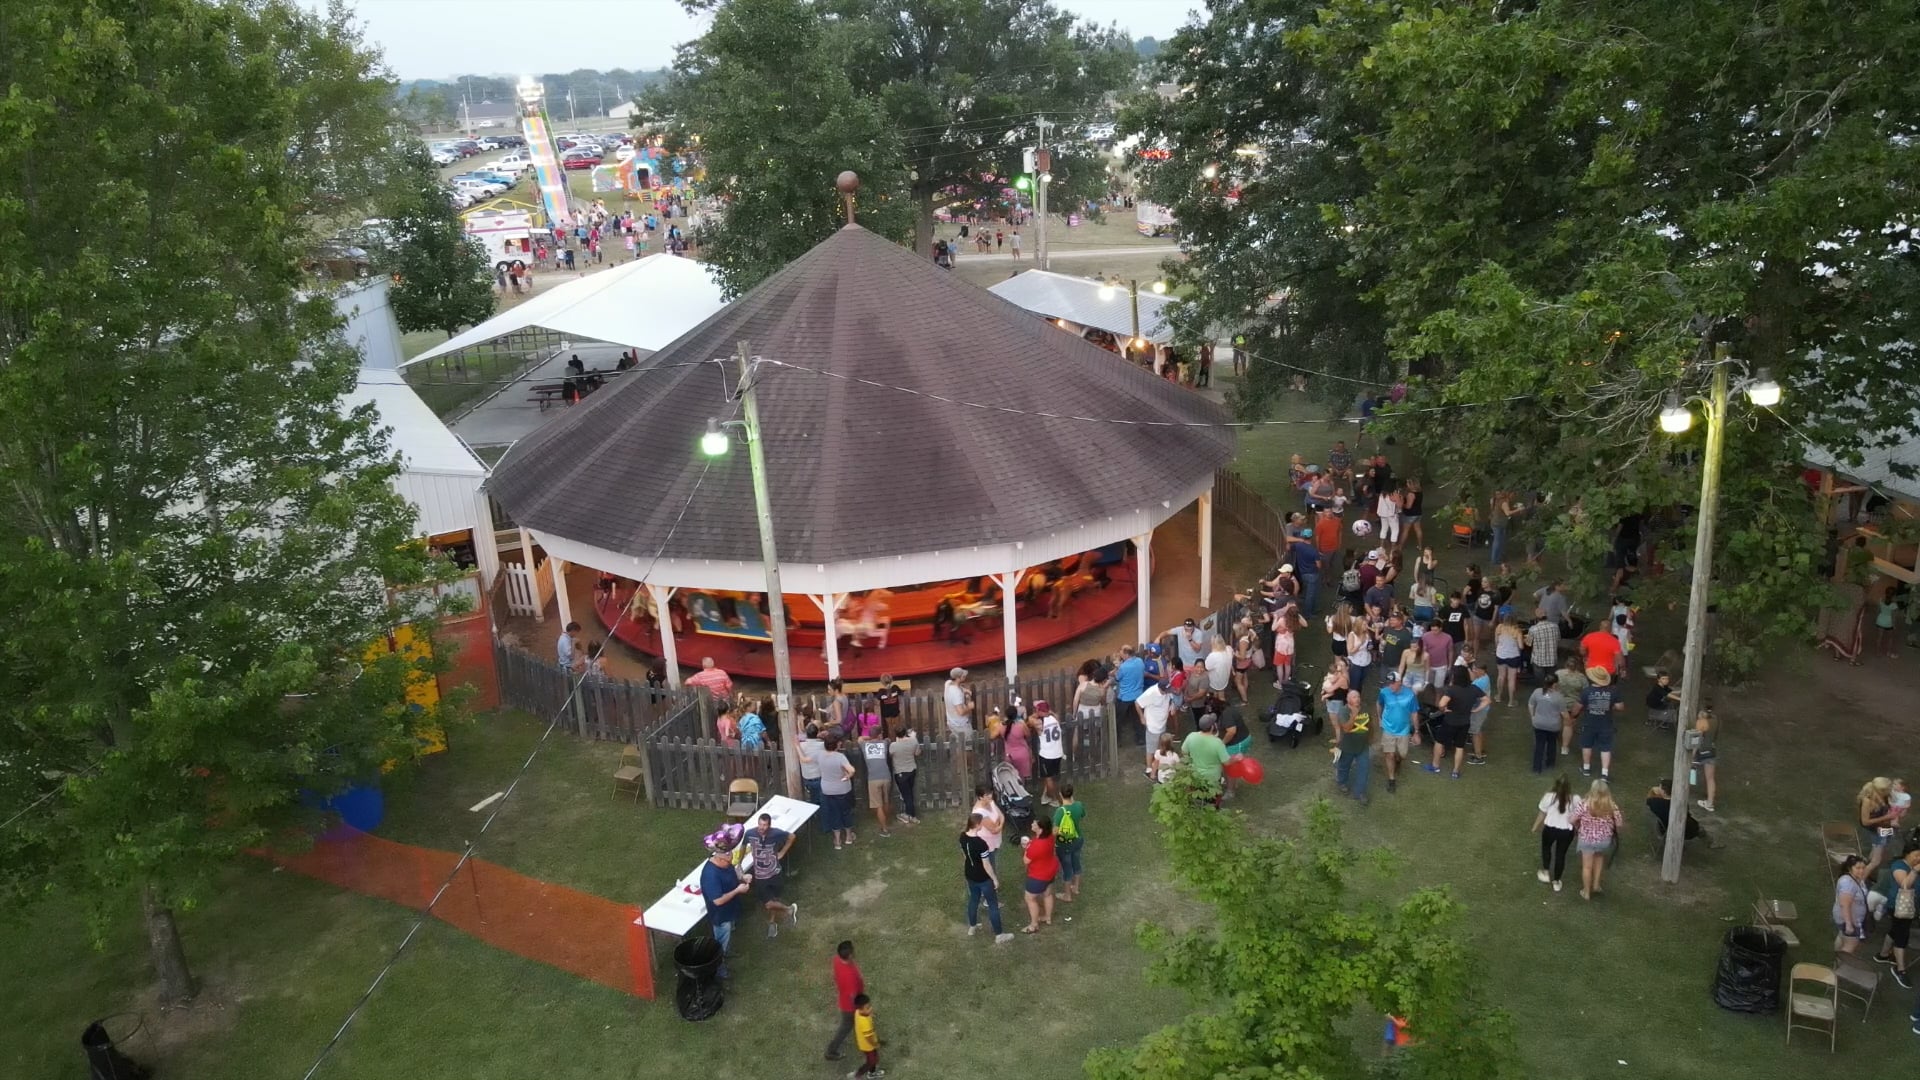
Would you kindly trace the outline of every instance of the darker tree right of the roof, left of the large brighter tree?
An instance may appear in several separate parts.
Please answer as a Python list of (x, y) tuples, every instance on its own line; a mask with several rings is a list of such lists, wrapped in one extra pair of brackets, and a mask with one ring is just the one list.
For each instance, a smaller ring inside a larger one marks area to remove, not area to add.
[[(1190, 284), (1175, 331), (1188, 342), (1221, 329), (1256, 361), (1233, 390), (1261, 419), (1296, 375), (1329, 402), (1352, 402), (1356, 379), (1388, 382), (1398, 365), (1369, 288), (1379, 271), (1344, 229), (1340, 208), (1369, 190), (1356, 144), (1375, 115), (1332, 77), (1340, 60), (1306, 56), (1288, 31), (1311, 25), (1321, 0), (1215, 4), (1160, 50), (1158, 77), (1177, 98), (1142, 94), (1121, 127), (1164, 158), (1137, 165), (1140, 194), (1165, 206), (1187, 254), (1169, 261)], [(1323, 69), (1325, 67), (1325, 69)]]

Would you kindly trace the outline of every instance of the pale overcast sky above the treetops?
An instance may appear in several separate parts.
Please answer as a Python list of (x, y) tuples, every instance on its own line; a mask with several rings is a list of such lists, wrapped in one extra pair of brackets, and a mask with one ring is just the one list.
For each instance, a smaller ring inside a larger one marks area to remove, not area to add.
[[(321, 6), (324, 0), (311, 0)], [(1198, 0), (1054, 0), (1133, 37), (1169, 38)], [(678, 0), (348, 0), (401, 79), (664, 67), (701, 35)]]

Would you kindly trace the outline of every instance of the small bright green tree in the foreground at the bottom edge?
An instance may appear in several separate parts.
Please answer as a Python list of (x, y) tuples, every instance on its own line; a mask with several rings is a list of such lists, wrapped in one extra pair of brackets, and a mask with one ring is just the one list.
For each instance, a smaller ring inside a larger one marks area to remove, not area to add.
[(1139, 1045), (1094, 1051), (1092, 1080), (1377, 1076), (1377, 1043), (1354, 1032), (1379, 1032), (1388, 1015), (1415, 1038), (1394, 1051), (1388, 1074), (1519, 1076), (1511, 1022), (1482, 1005), (1453, 936), (1461, 909), (1446, 892), (1379, 899), (1392, 859), (1342, 847), (1325, 799), (1300, 836), (1271, 836), (1198, 796), (1183, 769), (1154, 790), (1152, 815), (1175, 882), (1210, 909), (1185, 932), (1140, 930), (1150, 978), (1185, 990), (1196, 1011)]

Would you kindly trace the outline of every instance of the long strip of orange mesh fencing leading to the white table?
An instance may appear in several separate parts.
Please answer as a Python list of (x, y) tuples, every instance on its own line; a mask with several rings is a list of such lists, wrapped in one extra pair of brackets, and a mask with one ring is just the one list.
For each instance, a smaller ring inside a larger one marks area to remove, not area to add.
[[(275, 863), (413, 909), (434, 899), (459, 855), (346, 832)], [(636, 997), (653, 997), (653, 951), (639, 909), (468, 859), (434, 903), (434, 917), (509, 953)]]

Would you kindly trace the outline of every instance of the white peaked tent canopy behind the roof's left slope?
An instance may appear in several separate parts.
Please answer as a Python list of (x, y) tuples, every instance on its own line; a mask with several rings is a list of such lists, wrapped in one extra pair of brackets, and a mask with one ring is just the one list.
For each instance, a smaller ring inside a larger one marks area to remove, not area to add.
[(647, 256), (555, 284), (526, 304), (455, 334), (407, 363), (472, 348), (515, 331), (543, 329), (574, 338), (655, 352), (724, 307), (720, 282), (705, 263)]

